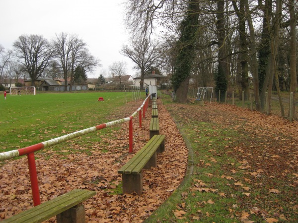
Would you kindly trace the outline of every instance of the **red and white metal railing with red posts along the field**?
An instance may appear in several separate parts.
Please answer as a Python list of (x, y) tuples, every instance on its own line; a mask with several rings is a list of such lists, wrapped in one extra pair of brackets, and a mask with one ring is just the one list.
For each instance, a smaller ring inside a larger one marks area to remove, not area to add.
[(55, 139), (50, 139), (45, 142), (41, 142), (32, 146), (28, 146), (25, 148), (12, 150), (4, 153), (0, 153), (0, 161), (9, 160), (11, 158), (20, 157), (27, 155), (28, 158), (28, 165), (29, 165), (29, 174), (30, 174), (30, 182), (31, 182), (31, 190), (32, 190), (32, 197), (33, 197), (33, 205), (37, 206), (40, 204), (40, 197), (39, 197), (39, 188), (38, 188), (38, 181), (37, 181), (37, 171), (36, 171), (36, 164), (35, 164), (35, 157), (34, 152), (54, 146), (57, 144), (60, 144), (62, 142), (65, 142), (70, 139), (74, 139), (76, 137), (79, 137), (81, 135), (86, 135), (88, 133), (110, 127), (116, 124), (120, 124), (123, 122), (129, 121), (129, 152), (133, 152), (133, 118), (138, 114), (139, 112), (139, 123), (140, 128), (142, 127), (142, 109), (143, 109), (143, 117), (145, 118), (145, 112), (148, 110), (150, 95), (145, 99), (143, 104), (140, 106), (140, 108), (135, 111), (131, 116), (122, 118), (115, 121), (110, 121), (104, 124), (96, 125), (90, 128), (86, 128), (77, 132), (73, 132), (61, 137), (57, 137)]

